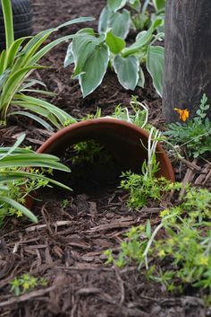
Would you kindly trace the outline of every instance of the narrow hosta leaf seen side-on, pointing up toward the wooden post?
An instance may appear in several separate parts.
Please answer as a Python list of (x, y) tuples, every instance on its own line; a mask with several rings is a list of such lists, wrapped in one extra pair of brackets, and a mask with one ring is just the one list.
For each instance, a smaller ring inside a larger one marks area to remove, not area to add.
[(148, 31), (141, 31), (138, 36), (137, 40), (134, 44), (132, 44), (129, 48), (124, 48), (122, 50), (122, 56), (127, 57), (129, 55), (136, 54), (140, 48), (143, 48), (145, 45), (147, 45), (150, 40), (153, 38), (153, 32), (156, 31), (156, 28), (158, 25), (162, 24), (162, 19), (157, 19), (153, 22), (153, 24), (150, 26)]

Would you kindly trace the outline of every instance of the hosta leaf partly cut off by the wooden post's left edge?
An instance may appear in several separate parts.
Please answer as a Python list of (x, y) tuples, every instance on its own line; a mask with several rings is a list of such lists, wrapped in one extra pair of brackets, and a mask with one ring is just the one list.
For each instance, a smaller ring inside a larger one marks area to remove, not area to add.
[(165, 48), (160, 46), (149, 46), (147, 57), (148, 73), (152, 76), (156, 92), (163, 95), (163, 78), (165, 64)]

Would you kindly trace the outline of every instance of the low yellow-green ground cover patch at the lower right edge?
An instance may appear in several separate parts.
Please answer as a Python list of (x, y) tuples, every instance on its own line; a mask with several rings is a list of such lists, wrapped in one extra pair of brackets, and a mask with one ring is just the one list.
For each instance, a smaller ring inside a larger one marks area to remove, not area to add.
[[(177, 185), (173, 187), (180, 189)], [(117, 259), (112, 251), (105, 251), (106, 262), (124, 267), (135, 261), (139, 269), (145, 264), (148, 278), (171, 292), (201, 286), (210, 303), (210, 203), (211, 193), (207, 189), (187, 188), (181, 205), (160, 213), (160, 225), (152, 230), (148, 221), (147, 225), (132, 227), (125, 233), (127, 240), (121, 243)], [(156, 239), (162, 229), (165, 234)]]

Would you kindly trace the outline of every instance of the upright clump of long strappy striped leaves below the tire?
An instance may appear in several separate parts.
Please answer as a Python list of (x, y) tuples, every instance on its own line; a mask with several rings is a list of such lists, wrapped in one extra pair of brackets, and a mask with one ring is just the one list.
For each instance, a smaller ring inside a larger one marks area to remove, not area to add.
[[(6, 118), (11, 106), (21, 108), (21, 111), (15, 111), (15, 114), (36, 119), (46, 128), (52, 128), (52, 126), (46, 123), (46, 120), (56, 128), (61, 128), (66, 124), (75, 122), (65, 111), (58, 109), (49, 102), (29, 96), (26, 92), (30, 92), (34, 84), (38, 84), (38, 81), (30, 79), (30, 75), (35, 69), (44, 68), (44, 66), (38, 65), (40, 58), (44, 57), (57, 44), (72, 39), (73, 35), (53, 40), (46, 45), (44, 44), (45, 40), (53, 32), (58, 31), (64, 26), (72, 23), (91, 21), (93, 19), (85, 17), (77, 18), (65, 22), (57, 28), (41, 31), (33, 37), (14, 40), (11, 0), (1, 0), (1, 2), (4, 13), (6, 48), (0, 54), (0, 125), (6, 124)], [(34, 92), (33, 89), (32, 92)], [(40, 91), (37, 90), (37, 92)], [(40, 119), (39, 116), (45, 120)]]

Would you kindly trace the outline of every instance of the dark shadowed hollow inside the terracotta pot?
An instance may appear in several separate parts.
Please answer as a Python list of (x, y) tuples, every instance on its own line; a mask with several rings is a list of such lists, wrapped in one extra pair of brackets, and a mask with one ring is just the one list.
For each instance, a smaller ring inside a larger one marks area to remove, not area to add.
[(107, 190), (117, 189), (120, 185), (123, 165), (111, 151), (94, 139), (66, 148), (61, 161), (72, 172), (55, 172), (54, 178), (72, 188), (73, 196), (101, 195)]

